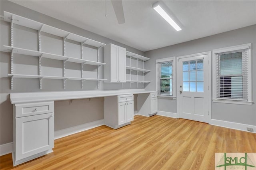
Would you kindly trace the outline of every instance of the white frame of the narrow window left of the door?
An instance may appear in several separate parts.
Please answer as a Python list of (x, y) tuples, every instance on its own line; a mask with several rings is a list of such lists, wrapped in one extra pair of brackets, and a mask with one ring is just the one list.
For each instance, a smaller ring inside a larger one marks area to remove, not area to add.
[[(158, 92), (158, 64), (172, 61), (172, 95), (157, 95), (158, 98), (176, 99), (176, 57), (156, 59), (156, 91)], [(158, 93), (157, 93), (158, 94)]]

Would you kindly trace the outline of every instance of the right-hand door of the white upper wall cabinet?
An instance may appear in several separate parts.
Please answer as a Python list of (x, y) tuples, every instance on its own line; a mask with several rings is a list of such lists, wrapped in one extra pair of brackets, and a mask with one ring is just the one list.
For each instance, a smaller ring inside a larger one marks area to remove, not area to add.
[(126, 82), (126, 49), (123, 47), (119, 47), (118, 51), (118, 66), (119, 66), (119, 82), (125, 83)]

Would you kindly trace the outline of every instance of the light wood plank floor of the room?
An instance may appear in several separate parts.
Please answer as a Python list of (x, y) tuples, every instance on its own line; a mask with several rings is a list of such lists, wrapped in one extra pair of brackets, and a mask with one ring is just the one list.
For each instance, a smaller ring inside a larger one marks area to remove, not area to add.
[(135, 116), (132, 125), (101, 126), (55, 140), (54, 152), (7, 169), (214, 170), (215, 152), (256, 152), (256, 134), (162, 116)]

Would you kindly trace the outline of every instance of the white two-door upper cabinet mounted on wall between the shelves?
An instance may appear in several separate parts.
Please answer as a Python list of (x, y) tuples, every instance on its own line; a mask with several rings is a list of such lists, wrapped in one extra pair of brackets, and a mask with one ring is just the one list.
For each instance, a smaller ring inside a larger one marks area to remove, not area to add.
[(126, 82), (126, 49), (112, 43), (104, 46), (104, 82)]

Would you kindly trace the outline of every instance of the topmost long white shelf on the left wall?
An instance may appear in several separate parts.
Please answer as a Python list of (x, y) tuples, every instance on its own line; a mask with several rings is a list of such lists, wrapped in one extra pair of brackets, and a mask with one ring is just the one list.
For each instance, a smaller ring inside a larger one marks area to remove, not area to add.
[(34, 30), (41, 30), (42, 32), (46, 32), (48, 34), (53, 34), (63, 38), (66, 37), (67, 39), (70, 39), (76, 42), (85, 42), (85, 44), (92, 45), (94, 47), (101, 47), (106, 45), (104, 43), (97, 42), (89, 38), (82, 37), (82, 36), (61, 30), (59, 28), (54, 28), (52, 26), (48, 26), (46, 24), (42, 24), (40, 22), (33, 21), (28, 18), (24, 18), (22, 16), (18, 16), (16, 14), (12, 14), (10, 12), (4, 11), (4, 20), (11, 22), (11, 19), (13, 24), (18, 24), (20, 26), (32, 28)]

